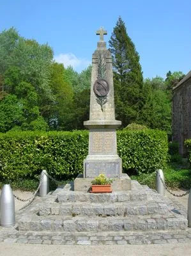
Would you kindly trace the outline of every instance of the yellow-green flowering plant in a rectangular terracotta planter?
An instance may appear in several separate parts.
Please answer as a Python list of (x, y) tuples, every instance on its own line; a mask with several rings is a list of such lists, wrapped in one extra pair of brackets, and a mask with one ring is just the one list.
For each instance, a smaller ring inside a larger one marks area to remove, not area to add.
[(112, 179), (108, 179), (105, 174), (100, 173), (91, 182), (91, 193), (111, 193)]

